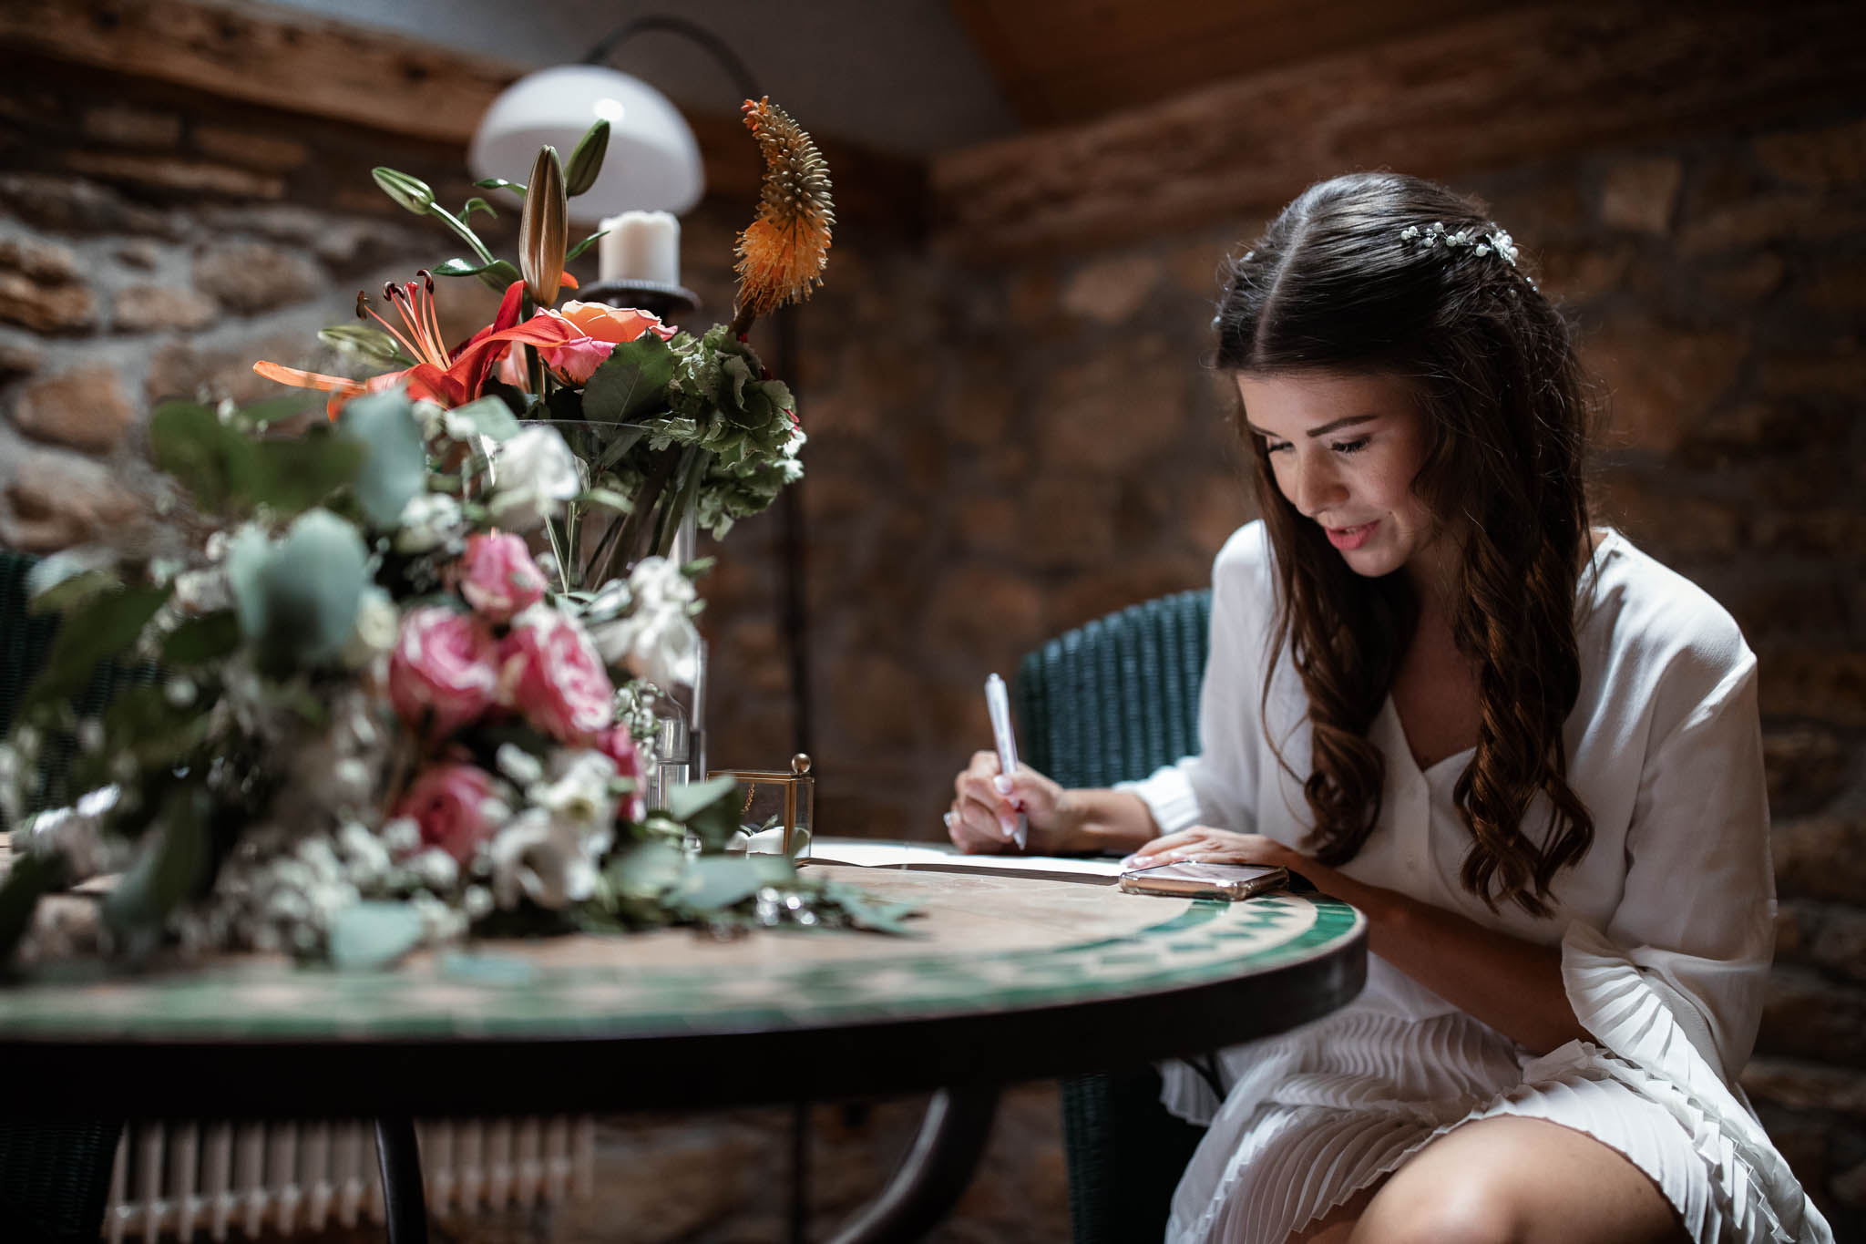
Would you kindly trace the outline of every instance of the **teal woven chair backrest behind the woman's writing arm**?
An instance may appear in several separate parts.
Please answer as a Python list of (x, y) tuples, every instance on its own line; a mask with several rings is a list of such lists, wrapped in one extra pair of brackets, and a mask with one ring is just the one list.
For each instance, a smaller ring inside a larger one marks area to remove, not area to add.
[(1065, 787), (1146, 778), (1198, 752), (1211, 589), (1056, 636), (1017, 668), (1023, 759)]

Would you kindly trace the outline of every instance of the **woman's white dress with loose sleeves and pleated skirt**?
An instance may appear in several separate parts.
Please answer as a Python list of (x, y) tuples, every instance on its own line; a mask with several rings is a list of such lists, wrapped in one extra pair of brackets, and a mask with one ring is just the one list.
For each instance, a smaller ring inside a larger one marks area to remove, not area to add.
[[(1623, 1153), (1698, 1244), (1832, 1240), (1735, 1082), (1775, 946), (1756, 658), (1709, 595), (1616, 533), (1579, 597), (1581, 696), (1564, 740), (1594, 845), (1556, 877), (1553, 914), (1491, 912), (1465, 892), (1470, 836), (1452, 789), (1470, 752), (1420, 772), (1390, 699), (1370, 731), (1386, 755), (1381, 817), (1342, 871), (1560, 944), (1569, 1002), (1595, 1041), (1534, 1057), (1370, 957), (1349, 1005), (1224, 1050), (1222, 1104), (1183, 1063), (1163, 1069), (1168, 1108), (1209, 1123), (1168, 1240), (1280, 1244), (1435, 1136), (1504, 1113)], [(1269, 541), (1252, 522), (1213, 569), (1202, 753), (1127, 787), (1163, 832), (1209, 824), (1302, 847), (1308, 804), (1263, 729), (1306, 776), (1308, 701), (1288, 657), (1269, 668), (1265, 653), (1274, 604)], [(1538, 796), (1530, 834), (1547, 815)]]

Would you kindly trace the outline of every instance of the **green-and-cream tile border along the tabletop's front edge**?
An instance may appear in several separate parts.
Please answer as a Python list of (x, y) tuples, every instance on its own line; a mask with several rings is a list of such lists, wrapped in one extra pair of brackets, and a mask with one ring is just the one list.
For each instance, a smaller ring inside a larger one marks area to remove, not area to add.
[[(1112, 897), (1112, 895), (1110, 895)], [(1204, 985), (1329, 955), (1362, 925), (1314, 895), (1194, 901), (1121, 936), (1041, 949), (814, 957), (842, 933), (767, 933), (795, 946), (773, 964), (545, 966), (489, 944), (381, 974), (235, 961), (125, 977), (67, 968), (0, 988), (0, 1041), (636, 1037), (815, 1028), (1043, 1007)]]

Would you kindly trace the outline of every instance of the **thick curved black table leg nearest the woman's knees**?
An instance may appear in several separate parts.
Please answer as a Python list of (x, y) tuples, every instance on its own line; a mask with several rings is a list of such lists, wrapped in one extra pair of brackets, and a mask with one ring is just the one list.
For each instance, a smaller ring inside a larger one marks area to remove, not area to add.
[(830, 1244), (896, 1244), (937, 1227), (972, 1182), (996, 1112), (996, 1085), (935, 1093), (894, 1179)]

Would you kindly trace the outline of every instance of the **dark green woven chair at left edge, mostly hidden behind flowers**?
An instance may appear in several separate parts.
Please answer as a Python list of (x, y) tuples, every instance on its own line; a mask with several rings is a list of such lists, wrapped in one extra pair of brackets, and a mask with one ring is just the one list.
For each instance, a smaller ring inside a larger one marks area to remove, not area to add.
[[(56, 617), (26, 614), (26, 574), (34, 563), (37, 558), (30, 554), (0, 548), (0, 737), (13, 726), (21, 696), (39, 673), (58, 634)], [(101, 666), (77, 698), (78, 711), (99, 712), (121, 686), (151, 677), (153, 670)], [(47, 748), (35, 804), (60, 785), (69, 763), (69, 742)], [(11, 1071), (32, 1074), (30, 1067)], [(45, 1123), (0, 1117), (0, 1238), (19, 1244), (95, 1244), (121, 1130), (119, 1119)]]

